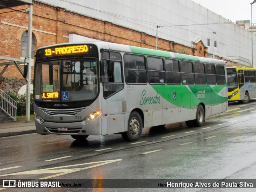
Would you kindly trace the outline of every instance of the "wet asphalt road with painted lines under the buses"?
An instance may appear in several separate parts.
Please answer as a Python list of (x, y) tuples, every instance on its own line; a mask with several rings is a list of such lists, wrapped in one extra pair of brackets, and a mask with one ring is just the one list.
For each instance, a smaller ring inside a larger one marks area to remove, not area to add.
[[(256, 179), (256, 100), (231, 103), (200, 128), (148, 128), (137, 142), (118, 134), (28, 134), (0, 138), (0, 179)], [(78, 169), (80, 168), (80, 169)], [(5, 191), (5, 190), (3, 190)], [(255, 191), (254, 189), (6, 189), (6, 191)]]

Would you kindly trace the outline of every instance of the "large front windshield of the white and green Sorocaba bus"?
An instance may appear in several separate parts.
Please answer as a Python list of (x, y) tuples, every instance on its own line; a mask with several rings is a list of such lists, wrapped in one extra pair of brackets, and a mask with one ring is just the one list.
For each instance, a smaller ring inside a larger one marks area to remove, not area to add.
[(97, 96), (97, 60), (46, 60), (35, 65), (34, 95), (37, 101), (92, 100)]

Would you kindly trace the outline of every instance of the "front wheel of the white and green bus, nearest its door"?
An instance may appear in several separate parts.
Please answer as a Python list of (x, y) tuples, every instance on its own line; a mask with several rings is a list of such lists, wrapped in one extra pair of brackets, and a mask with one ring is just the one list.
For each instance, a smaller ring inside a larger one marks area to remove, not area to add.
[(142, 118), (138, 112), (131, 112), (127, 124), (127, 131), (122, 132), (122, 138), (128, 142), (137, 141), (142, 134)]

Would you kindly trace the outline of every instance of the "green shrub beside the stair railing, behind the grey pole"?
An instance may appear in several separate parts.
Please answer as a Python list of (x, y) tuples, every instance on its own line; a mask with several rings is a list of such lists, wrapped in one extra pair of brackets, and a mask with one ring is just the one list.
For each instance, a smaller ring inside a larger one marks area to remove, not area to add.
[[(8, 96), (10, 96), (13, 100), (17, 102), (17, 116), (20, 115), (26, 115), (26, 94), (20, 95), (20, 94), (14, 94), (14, 93), (8, 93)], [(30, 114), (34, 113), (34, 98), (33, 93), (30, 94)]]

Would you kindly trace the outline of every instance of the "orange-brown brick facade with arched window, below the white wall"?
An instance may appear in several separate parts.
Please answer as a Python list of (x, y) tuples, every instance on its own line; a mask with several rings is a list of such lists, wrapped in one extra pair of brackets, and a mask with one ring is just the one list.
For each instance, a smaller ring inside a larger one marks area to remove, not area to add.
[[(28, 5), (0, 10), (0, 56), (24, 58), (28, 30)], [(118, 26), (111, 22), (88, 17), (64, 8), (33, 1), (32, 53), (41, 46), (69, 42), (69, 34), (77, 34), (97, 40), (127, 44), (144, 48), (156, 47), (156, 36)], [(196, 39), (192, 46), (184, 46), (171, 40), (158, 38), (158, 50), (207, 57), (208, 48)], [(0, 60), (0, 63), (7, 61)], [(4, 66), (0, 66), (0, 73)], [(21, 64), (21, 68), (23, 68)], [(34, 67), (32, 66), (32, 78)], [(13, 65), (9, 65), (0, 78), (0, 89), (18, 92), (25, 80)]]

